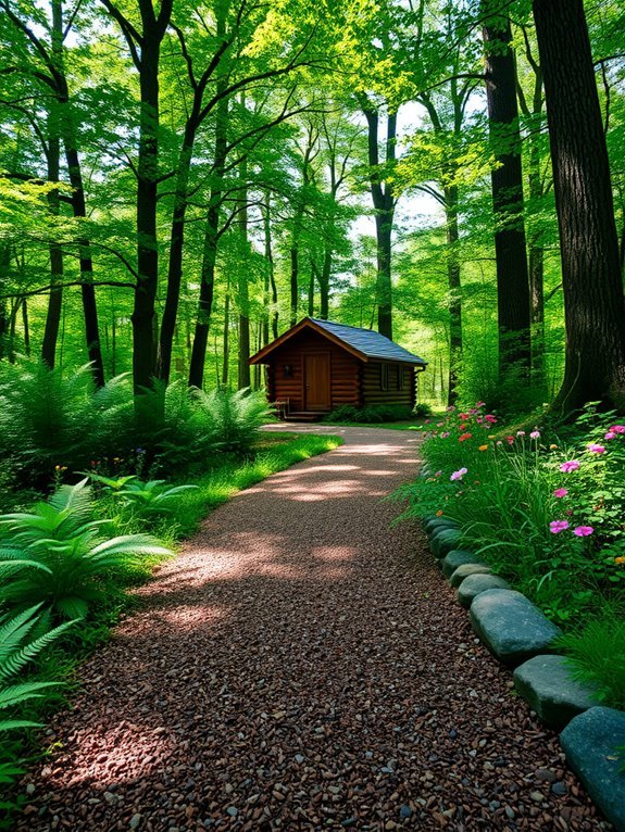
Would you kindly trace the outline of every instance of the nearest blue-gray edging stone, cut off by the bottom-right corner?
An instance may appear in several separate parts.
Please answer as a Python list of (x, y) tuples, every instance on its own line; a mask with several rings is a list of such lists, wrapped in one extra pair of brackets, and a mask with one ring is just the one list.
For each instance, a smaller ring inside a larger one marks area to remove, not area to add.
[(593, 707), (575, 717), (560, 734), (568, 765), (592, 801), (625, 832), (625, 774), (616, 748), (625, 745), (625, 713)]

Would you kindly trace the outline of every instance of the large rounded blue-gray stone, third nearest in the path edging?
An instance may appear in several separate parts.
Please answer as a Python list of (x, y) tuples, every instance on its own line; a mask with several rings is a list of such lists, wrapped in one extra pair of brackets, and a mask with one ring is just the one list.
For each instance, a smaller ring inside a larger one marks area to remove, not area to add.
[(540, 653), (552, 653), (553, 640), (560, 635), (560, 629), (515, 590), (480, 592), (473, 600), (468, 615), (476, 635), (510, 667)]

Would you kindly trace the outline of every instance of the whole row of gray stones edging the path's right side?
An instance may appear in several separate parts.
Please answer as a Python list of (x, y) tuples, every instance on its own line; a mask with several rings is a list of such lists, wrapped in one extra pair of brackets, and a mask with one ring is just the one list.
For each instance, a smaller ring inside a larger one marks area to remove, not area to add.
[(564, 657), (552, 646), (559, 628), (461, 547), (457, 522), (429, 515), (423, 524), (438, 565), (468, 609), (474, 632), (513, 670), (518, 695), (560, 733), (568, 765), (616, 832), (625, 832), (625, 773), (614, 753), (625, 746), (625, 713), (595, 705), (592, 688), (571, 679)]

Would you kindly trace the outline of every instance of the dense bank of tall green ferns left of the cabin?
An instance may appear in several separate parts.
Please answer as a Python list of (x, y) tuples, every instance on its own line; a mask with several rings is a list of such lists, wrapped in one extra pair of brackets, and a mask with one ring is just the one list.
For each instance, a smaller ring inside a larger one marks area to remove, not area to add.
[(45, 486), (55, 466), (70, 470), (135, 459), (185, 470), (220, 452), (245, 453), (271, 417), (264, 394), (205, 393), (154, 381), (135, 398), (127, 376), (96, 390), (89, 367), (63, 373), (24, 361), (0, 381), (0, 470), (20, 486)]

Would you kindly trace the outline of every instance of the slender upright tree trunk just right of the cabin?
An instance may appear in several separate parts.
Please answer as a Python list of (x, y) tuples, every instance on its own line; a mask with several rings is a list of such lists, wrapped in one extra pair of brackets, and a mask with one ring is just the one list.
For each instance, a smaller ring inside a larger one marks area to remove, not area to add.
[(449, 385), (448, 404), (458, 401), (459, 369), (462, 362), (462, 293), (458, 254), (458, 187), (445, 189), (447, 230), (447, 282), (449, 291)]

